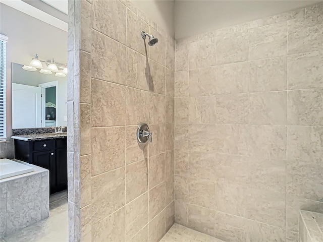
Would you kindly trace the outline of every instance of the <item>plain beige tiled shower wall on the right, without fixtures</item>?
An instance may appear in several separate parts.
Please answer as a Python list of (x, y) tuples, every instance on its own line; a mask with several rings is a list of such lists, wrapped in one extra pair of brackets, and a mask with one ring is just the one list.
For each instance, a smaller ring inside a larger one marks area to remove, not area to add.
[(323, 212), (323, 4), (176, 43), (175, 221), (298, 241)]

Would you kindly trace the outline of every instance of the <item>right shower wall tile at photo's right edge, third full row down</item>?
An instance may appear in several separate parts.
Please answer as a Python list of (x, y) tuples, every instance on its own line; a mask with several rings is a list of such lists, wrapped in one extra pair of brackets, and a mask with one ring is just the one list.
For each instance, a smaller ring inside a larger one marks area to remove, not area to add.
[(288, 92), (289, 125), (323, 125), (323, 89)]

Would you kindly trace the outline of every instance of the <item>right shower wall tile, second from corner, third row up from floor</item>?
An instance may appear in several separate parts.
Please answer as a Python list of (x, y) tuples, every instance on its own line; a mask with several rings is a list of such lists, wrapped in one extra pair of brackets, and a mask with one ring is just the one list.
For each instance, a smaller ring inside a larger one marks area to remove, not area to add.
[(195, 179), (216, 180), (216, 153), (214, 151), (189, 151), (189, 176)]

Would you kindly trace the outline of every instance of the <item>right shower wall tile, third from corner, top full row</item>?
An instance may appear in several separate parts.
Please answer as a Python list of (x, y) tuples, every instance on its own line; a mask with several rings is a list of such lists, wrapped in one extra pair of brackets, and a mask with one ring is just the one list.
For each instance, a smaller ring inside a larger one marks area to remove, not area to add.
[(247, 32), (217, 36), (217, 64), (245, 62), (248, 60)]

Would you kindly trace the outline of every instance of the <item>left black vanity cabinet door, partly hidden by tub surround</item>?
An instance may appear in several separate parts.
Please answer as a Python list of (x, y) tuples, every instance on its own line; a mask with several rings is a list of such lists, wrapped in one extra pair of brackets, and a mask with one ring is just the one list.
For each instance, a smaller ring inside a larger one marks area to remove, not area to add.
[(56, 193), (56, 162), (54, 151), (34, 152), (32, 164), (49, 170), (49, 192)]

